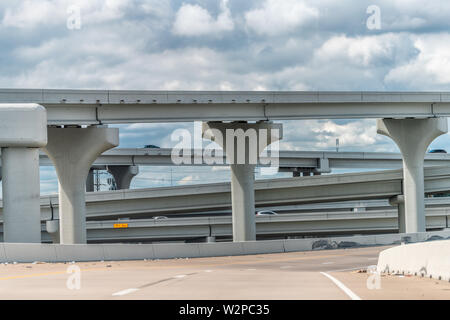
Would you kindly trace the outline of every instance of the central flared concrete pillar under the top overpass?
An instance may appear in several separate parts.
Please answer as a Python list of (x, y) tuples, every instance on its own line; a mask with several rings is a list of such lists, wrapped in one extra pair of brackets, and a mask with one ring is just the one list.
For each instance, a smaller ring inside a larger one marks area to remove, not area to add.
[(261, 152), (281, 139), (282, 125), (270, 122), (205, 122), (203, 136), (222, 147), (230, 164), (233, 241), (254, 241), (255, 167)]

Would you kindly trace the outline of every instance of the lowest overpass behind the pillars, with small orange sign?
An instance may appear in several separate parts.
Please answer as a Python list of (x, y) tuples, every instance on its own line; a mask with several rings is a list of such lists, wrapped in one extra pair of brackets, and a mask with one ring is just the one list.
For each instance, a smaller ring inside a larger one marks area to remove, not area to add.
[[(232, 239), (231, 216), (197, 216), (167, 219), (115, 219), (88, 220), (89, 243), (104, 242), (204, 242)], [(427, 230), (449, 228), (450, 201), (441, 206), (426, 208)], [(91, 217), (92, 218), (92, 217)], [(121, 225), (120, 228), (117, 225)], [(41, 225), (43, 242), (52, 242), (46, 224)], [(257, 239), (285, 239), (289, 237), (317, 237), (347, 234), (384, 234), (398, 231), (398, 214), (395, 208), (352, 211), (318, 211), (287, 213), (256, 218)], [(0, 240), (2, 226), (0, 224)]]

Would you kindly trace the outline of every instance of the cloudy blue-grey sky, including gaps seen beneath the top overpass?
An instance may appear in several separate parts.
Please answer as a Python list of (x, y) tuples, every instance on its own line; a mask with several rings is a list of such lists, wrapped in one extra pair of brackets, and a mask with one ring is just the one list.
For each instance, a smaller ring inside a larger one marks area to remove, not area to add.
[[(449, 90), (450, 1), (2, 0), (0, 87)], [(192, 124), (133, 124), (121, 147), (171, 147)], [(284, 123), (285, 150), (397, 151), (374, 120)], [(448, 135), (432, 147), (450, 150)], [(142, 168), (134, 187), (209, 181)], [(226, 179), (226, 170), (216, 170)], [(43, 169), (43, 193), (56, 191)], [(208, 176), (209, 178), (205, 178)]]

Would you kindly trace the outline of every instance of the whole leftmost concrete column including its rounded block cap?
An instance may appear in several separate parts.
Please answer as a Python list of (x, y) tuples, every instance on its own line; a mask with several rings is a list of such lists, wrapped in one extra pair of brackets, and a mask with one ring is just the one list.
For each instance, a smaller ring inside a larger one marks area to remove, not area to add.
[(46, 144), (44, 107), (0, 104), (4, 242), (41, 242), (39, 148)]

